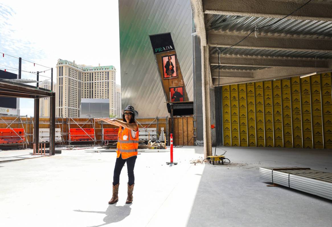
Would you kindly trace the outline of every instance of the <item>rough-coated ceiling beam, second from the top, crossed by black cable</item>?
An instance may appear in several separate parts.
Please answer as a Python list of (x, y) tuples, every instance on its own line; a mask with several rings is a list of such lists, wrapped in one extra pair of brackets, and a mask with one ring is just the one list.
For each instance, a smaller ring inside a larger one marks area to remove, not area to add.
[[(242, 40), (245, 35), (234, 35), (217, 32), (207, 34), (209, 46), (230, 47)], [(332, 52), (331, 39), (303, 39), (285, 36), (258, 35), (252, 33), (234, 47), (248, 49), (295, 50)]]

